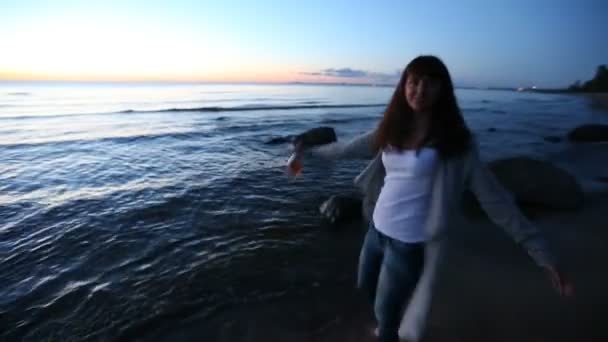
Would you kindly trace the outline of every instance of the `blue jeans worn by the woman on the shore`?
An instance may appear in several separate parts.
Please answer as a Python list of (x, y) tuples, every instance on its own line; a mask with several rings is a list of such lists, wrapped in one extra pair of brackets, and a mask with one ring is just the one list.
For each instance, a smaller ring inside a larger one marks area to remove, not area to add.
[(399, 324), (423, 266), (424, 243), (392, 239), (370, 222), (359, 257), (357, 285), (374, 305), (380, 341), (399, 341)]

